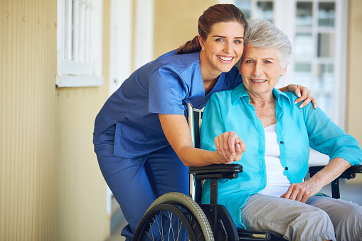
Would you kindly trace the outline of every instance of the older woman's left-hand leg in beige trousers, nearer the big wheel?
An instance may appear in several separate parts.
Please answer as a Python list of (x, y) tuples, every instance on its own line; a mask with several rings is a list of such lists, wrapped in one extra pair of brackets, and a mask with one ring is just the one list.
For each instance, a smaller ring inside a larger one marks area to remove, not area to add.
[(295, 200), (255, 194), (240, 214), (250, 231), (270, 232), (287, 240), (336, 240), (324, 210)]

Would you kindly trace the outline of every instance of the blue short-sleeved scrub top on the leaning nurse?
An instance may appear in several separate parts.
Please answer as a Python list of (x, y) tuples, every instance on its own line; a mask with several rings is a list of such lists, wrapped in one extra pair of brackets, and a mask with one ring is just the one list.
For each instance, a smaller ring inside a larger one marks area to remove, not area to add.
[(187, 103), (202, 108), (213, 92), (232, 90), (243, 82), (234, 67), (222, 73), (205, 96), (200, 52), (176, 55), (176, 50), (147, 63), (105, 102), (95, 119), (95, 138), (116, 124), (115, 156), (134, 158), (169, 146), (158, 114), (185, 114)]

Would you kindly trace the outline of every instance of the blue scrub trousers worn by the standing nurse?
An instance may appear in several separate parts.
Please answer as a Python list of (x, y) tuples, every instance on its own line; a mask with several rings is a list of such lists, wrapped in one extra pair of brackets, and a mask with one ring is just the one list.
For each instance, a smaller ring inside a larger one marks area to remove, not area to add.
[(149, 205), (159, 196), (188, 194), (188, 168), (171, 146), (134, 159), (115, 156), (115, 125), (93, 139), (102, 175), (119, 203), (128, 225), (122, 230), (132, 240)]

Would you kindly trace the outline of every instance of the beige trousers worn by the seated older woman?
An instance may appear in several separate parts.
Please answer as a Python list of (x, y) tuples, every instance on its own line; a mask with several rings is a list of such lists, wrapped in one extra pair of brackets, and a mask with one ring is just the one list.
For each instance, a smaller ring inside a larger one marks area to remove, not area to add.
[(307, 203), (255, 194), (241, 208), (249, 231), (286, 240), (362, 240), (362, 207), (341, 199), (313, 196)]

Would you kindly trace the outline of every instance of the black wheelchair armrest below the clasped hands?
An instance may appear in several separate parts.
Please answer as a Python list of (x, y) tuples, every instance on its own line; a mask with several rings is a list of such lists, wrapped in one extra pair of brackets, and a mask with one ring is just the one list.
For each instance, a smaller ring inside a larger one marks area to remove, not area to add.
[(239, 164), (213, 164), (188, 168), (188, 173), (196, 175), (198, 179), (233, 179), (237, 178), (240, 172), (243, 172), (243, 166)]

